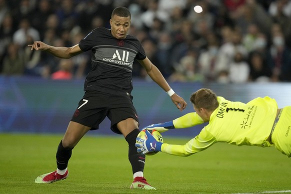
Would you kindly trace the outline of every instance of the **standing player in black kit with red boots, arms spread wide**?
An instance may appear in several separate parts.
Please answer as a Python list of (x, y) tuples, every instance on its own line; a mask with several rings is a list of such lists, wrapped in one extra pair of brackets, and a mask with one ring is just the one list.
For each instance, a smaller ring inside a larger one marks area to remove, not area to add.
[(34, 41), (31, 50), (45, 50), (60, 58), (70, 58), (83, 51), (91, 50), (91, 70), (84, 82), (84, 96), (67, 126), (56, 151), (57, 169), (42, 174), (36, 183), (50, 183), (68, 176), (67, 164), (73, 147), (88, 130), (98, 129), (107, 116), (111, 130), (123, 134), (128, 142), (128, 159), (132, 166), (133, 182), (130, 188), (155, 189), (143, 177), (145, 155), (137, 153), (135, 138), (139, 133), (138, 117), (132, 103), (132, 64), (136, 59), (182, 111), (187, 103), (170, 88), (160, 71), (146, 57), (141, 43), (127, 34), (131, 15), (126, 7), (112, 11), (111, 29), (98, 27), (72, 47), (54, 47)]

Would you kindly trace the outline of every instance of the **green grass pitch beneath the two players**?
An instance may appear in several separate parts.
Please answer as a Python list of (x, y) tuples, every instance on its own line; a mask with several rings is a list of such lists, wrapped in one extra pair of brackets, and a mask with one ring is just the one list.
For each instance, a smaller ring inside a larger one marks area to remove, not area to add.
[[(0, 193), (274, 193), (291, 190), (291, 160), (274, 147), (212, 147), (179, 157), (146, 157), (144, 176), (157, 190), (131, 190), (127, 142), (120, 137), (84, 136), (73, 149), (66, 180), (36, 184), (53, 171), (62, 135), (0, 133)], [(167, 137), (183, 144), (188, 139)], [(190, 139), (190, 138), (189, 138)]]

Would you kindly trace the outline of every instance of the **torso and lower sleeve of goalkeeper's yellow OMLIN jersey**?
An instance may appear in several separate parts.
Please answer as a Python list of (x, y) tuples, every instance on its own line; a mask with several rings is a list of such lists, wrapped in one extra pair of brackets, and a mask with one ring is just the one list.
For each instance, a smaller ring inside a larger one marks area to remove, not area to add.
[(247, 103), (229, 101), (218, 96), (218, 107), (209, 124), (184, 145), (163, 143), (161, 151), (186, 156), (206, 149), (215, 142), (235, 145), (271, 146), (267, 141), (277, 111), (277, 103), (268, 96)]

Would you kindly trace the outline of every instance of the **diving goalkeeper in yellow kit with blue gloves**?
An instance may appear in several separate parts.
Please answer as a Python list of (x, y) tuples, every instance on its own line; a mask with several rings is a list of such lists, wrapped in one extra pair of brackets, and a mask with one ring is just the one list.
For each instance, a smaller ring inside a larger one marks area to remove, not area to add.
[(216, 142), (235, 145), (274, 145), (288, 157), (291, 156), (291, 106), (278, 108), (275, 99), (257, 97), (247, 103), (229, 101), (208, 89), (201, 88), (190, 96), (195, 112), (172, 121), (151, 124), (143, 129), (159, 132), (172, 128), (186, 128), (209, 122), (201, 132), (184, 145), (156, 141), (147, 131), (147, 139), (136, 138), (138, 152), (162, 151), (188, 156), (202, 151)]

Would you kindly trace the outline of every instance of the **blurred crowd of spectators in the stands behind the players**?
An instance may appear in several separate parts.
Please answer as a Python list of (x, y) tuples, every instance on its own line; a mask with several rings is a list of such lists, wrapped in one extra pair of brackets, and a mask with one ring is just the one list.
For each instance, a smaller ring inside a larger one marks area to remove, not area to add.
[[(90, 52), (61, 59), (27, 44), (77, 44), (110, 28), (116, 6), (169, 81), (291, 81), (291, 0), (0, 0), (0, 74), (83, 79)], [(132, 75), (148, 78), (137, 62)]]

